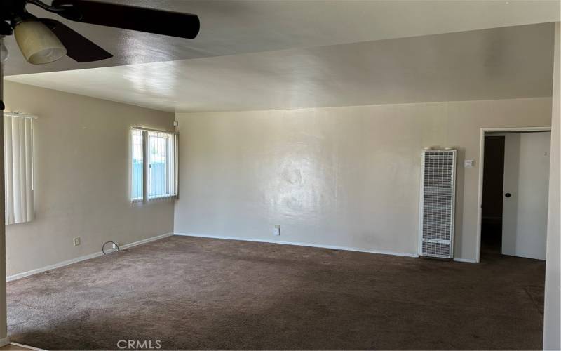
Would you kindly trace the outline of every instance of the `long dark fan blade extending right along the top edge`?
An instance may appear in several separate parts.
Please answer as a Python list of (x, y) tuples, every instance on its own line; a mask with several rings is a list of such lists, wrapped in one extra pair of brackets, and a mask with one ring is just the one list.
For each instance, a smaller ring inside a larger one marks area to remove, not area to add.
[[(201, 23), (197, 15), (90, 0), (54, 0), (53, 7), (69, 20), (170, 37), (194, 39)], [(62, 11), (65, 8), (68, 11)]]

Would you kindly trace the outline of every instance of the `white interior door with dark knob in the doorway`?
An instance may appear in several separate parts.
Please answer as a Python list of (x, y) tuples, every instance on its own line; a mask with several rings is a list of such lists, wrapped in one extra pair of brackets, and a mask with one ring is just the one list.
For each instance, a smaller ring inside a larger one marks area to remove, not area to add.
[(504, 255), (546, 259), (550, 138), (550, 132), (505, 135)]

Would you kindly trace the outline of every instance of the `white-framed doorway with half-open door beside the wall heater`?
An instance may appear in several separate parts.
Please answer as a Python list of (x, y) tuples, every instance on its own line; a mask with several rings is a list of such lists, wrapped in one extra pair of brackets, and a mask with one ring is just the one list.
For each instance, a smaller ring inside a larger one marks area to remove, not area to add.
[(482, 130), (481, 137), (478, 258), (545, 260), (550, 128)]

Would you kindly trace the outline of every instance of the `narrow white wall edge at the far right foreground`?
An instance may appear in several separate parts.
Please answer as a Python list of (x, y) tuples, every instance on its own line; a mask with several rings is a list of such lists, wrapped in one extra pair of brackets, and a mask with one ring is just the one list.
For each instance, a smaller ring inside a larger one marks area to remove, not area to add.
[(551, 164), (549, 173), (548, 243), (546, 253), (546, 296), (543, 317), (543, 349), (561, 350), (561, 247), (560, 177), (561, 157), (561, 24), (555, 23), (555, 68), (553, 72), (553, 112), (551, 126)]

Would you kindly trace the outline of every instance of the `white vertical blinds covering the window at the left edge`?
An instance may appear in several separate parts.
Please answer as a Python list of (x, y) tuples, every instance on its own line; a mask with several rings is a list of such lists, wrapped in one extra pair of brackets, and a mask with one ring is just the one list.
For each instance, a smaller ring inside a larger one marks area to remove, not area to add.
[(4, 114), (6, 224), (33, 220), (33, 119)]

